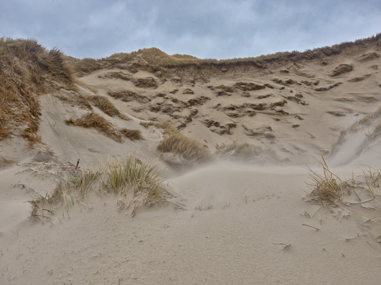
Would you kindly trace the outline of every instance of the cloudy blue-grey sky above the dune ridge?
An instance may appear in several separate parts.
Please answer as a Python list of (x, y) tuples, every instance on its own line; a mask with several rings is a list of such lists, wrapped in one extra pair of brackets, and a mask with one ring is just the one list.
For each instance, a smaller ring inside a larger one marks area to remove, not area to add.
[(0, 37), (101, 58), (158, 47), (199, 58), (304, 51), (381, 32), (379, 0), (3, 0)]

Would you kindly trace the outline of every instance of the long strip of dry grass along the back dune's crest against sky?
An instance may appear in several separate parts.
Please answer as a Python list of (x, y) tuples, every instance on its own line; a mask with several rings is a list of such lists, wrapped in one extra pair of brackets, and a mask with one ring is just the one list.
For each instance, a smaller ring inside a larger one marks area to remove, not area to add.
[[(198, 59), (191, 55), (168, 55), (158, 48), (151, 47), (148, 49), (139, 49), (131, 53), (116, 53), (103, 59), (84, 59), (72, 62), (76, 70), (80, 73), (91, 72), (100, 68), (127, 68), (136, 73), (139, 68), (141, 70), (147, 70), (149, 72), (157, 72), (158, 77), (168, 76), (170, 73), (186, 68), (194, 68), (202, 75), (202, 70), (207, 68), (218, 68), (223, 72), (226, 72), (235, 67), (247, 67), (253, 66), (257, 68), (266, 68), (268, 63), (289, 61), (296, 62), (300, 60), (312, 60), (320, 59), (324, 64), (324, 58), (331, 55), (341, 54), (343, 51), (347, 51), (352, 47), (367, 47), (367, 46), (379, 46), (379, 40), (381, 33), (369, 38), (356, 40), (354, 42), (343, 42), (341, 44), (335, 44), (333, 46), (325, 46), (315, 49), (308, 49), (304, 52), (299, 51), (285, 51), (276, 52), (274, 54), (260, 55), (258, 57), (246, 57), (235, 59)], [(202, 76), (201, 76), (202, 77)], [(269, 87), (269, 86), (268, 86)], [(269, 87), (271, 88), (271, 87)]]

